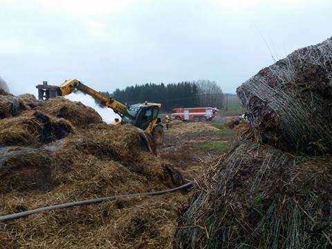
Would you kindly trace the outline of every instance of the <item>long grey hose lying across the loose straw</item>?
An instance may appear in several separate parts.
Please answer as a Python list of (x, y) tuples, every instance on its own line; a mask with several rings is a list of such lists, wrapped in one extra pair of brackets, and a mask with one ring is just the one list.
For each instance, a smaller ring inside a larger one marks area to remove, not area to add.
[(174, 188), (168, 189), (168, 190), (160, 190), (160, 191), (147, 192), (147, 193), (142, 193), (142, 194), (123, 194), (123, 195), (118, 195), (118, 196), (108, 196), (108, 197), (103, 197), (103, 198), (98, 198), (98, 199), (90, 199), (90, 200), (85, 200), (85, 201), (75, 201), (75, 202), (71, 202), (71, 203), (51, 205), (51, 206), (44, 207), (44, 208), (36, 208), (35, 210), (28, 210), (28, 211), (24, 211), (24, 212), (15, 213), (15, 214), (3, 215), (3, 216), (0, 216), (0, 222), (8, 221), (11, 219), (18, 219), (18, 218), (21, 218), (24, 216), (28, 216), (30, 214), (37, 214), (39, 212), (56, 210), (56, 209), (60, 209), (60, 208), (71, 208), (71, 207), (81, 206), (81, 205), (101, 203), (103, 201), (114, 201), (118, 198), (129, 198), (129, 197), (139, 197), (139, 196), (156, 196), (156, 195), (160, 195), (160, 194), (172, 193), (172, 192), (176, 192), (178, 190), (187, 190), (188, 188), (192, 187), (192, 185), (193, 185), (193, 183), (189, 182), (189, 183), (186, 183), (179, 187), (174, 187)]

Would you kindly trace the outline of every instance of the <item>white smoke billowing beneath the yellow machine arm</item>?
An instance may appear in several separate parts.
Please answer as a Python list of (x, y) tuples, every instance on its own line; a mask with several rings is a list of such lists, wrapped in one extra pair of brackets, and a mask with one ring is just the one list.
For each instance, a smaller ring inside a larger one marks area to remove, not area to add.
[(104, 122), (111, 123), (114, 121), (114, 118), (120, 119), (120, 116), (118, 116), (118, 114), (116, 114), (111, 108), (102, 108), (96, 104), (95, 100), (90, 95), (77, 91), (76, 93), (66, 96), (66, 98), (71, 101), (80, 101), (82, 104), (85, 104), (88, 107), (92, 107), (99, 113)]

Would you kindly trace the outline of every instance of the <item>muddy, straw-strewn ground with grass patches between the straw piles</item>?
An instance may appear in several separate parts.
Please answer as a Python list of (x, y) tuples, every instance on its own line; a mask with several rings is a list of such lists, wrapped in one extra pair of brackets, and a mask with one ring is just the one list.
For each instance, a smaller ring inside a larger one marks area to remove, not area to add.
[(176, 122), (165, 129), (157, 154), (177, 165), (184, 178), (199, 178), (208, 165), (229, 151), (233, 132), (221, 122)]

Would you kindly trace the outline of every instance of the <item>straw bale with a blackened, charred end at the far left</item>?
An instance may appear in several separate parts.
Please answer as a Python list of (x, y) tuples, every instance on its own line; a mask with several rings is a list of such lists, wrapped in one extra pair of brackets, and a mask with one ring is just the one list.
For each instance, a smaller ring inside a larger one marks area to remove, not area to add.
[(64, 138), (73, 127), (64, 119), (52, 118), (39, 111), (0, 120), (0, 146), (39, 145)]

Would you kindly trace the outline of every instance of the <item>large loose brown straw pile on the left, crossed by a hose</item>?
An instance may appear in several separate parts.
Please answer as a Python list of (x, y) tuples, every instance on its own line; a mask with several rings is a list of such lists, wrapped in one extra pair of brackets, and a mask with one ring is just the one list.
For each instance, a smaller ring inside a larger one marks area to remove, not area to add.
[[(183, 184), (176, 167), (142, 151), (140, 133), (102, 122), (62, 98), (0, 120), (0, 215)], [(76, 118), (77, 117), (77, 118)], [(82, 127), (89, 127), (82, 129)], [(118, 199), (0, 223), (4, 248), (165, 248), (183, 193)]]

